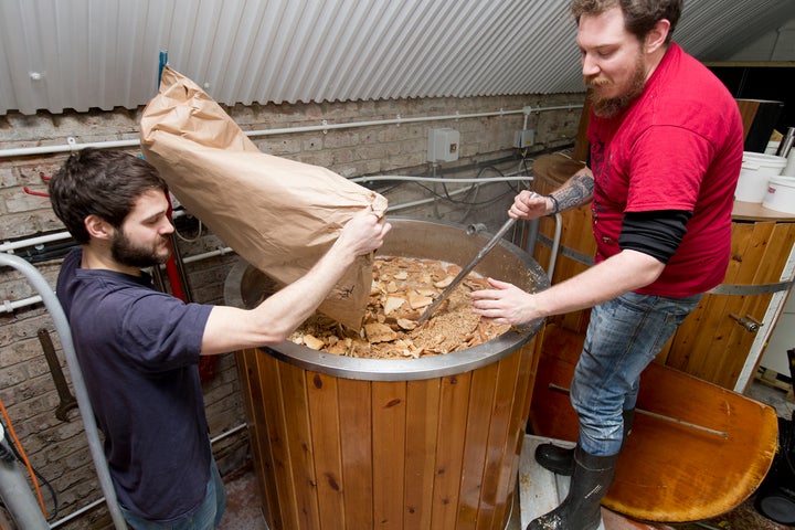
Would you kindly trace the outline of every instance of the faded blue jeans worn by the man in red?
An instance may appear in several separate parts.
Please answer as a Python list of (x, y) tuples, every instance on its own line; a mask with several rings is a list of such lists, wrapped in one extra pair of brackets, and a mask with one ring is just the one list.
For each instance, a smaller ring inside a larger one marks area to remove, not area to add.
[(571, 385), (579, 444), (586, 453), (621, 451), (622, 412), (635, 409), (640, 373), (700, 299), (627, 293), (593, 308)]

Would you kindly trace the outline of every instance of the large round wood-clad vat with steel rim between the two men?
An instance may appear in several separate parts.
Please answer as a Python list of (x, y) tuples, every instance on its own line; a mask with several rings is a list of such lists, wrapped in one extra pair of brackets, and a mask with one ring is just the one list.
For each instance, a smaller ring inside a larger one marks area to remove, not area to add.
[[(385, 255), (466, 263), (488, 241), (460, 226), (390, 221)], [(509, 243), (481, 264), (477, 272), (526, 289), (549, 285)], [(227, 303), (239, 283), (233, 271)], [(237, 352), (268, 527), (505, 529), (541, 324), (433, 358), (354, 359), (289, 342)]]

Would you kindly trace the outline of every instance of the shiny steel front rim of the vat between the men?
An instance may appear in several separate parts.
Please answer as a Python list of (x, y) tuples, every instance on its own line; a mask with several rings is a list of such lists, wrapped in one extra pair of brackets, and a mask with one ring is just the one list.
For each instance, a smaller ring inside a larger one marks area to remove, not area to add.
[[(342, 379), (368, 381), (417, 381), (460, 375), (515, 353), (541, 329), (533, 320), (521, 331), (509, 330), (474, 348), (420, 359), (362, 359), (310, 350), (289, 341), (259, 348), (265, 353), (304, 370)], [(496, 353), (495, 353), (496, 351)]]

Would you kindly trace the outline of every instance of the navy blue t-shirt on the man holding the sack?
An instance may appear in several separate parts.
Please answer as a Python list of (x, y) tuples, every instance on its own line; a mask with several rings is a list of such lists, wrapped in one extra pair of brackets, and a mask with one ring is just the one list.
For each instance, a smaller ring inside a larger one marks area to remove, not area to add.
[(81, 268), (72, 251), (56, 294), (66, 312), (116, 495), (172, 522), (204, 498), (212, 456), (199, 352), (212, 306), (184, 304), (148, 276)]

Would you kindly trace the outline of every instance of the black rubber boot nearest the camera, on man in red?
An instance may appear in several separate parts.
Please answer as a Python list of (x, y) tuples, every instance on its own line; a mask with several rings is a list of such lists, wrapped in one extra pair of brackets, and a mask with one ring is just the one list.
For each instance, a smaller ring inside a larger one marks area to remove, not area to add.
[(549, 513), (533, 519), (527, 530), (596, 530), (602, 522), (602, 498), (615, 478), (618, 455), (594, 456), (574, 448), (574, 474), (569, 495)]

